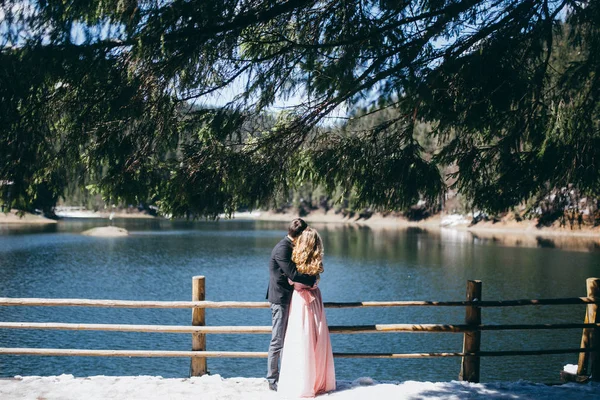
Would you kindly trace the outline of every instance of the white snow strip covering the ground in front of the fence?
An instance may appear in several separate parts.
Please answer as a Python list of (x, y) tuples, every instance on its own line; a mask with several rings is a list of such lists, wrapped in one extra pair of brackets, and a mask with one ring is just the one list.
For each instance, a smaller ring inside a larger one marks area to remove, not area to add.
[[(360, 378), (338, 381), (335, 392), (323, 400), (600, 400), (597, 383), (547, 386), (529, 382), (376, 382)], [(0, 379), (2, 400), (276, 400), (264, 378), (228, 378), (219, 375), (173, 379), (159, 376), (28, 376)]]

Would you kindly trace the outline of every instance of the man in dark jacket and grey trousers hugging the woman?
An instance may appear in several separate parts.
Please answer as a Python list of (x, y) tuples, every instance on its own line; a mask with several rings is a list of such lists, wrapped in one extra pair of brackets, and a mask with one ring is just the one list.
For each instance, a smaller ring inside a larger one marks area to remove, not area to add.
[(294, 219), (288, 228), (288, 234), (275, 245), (271, 252), (269, 262), (269, 288), (267, 300), (271, 303), (271, 318), (273, 332), (269, 344), (267, 380), (269, 388), (277, 390), (279, 379), (279, 358), (283, 348), (283, 339), (289, 315), (290, 300), (294, 287), (289, 284), (288, 278), (294, 282), (313, 286), (316, 278), (298, 272), (296, 264), (292, 261), (294, 239), (306, 229), (307, 224), (301, 218)]

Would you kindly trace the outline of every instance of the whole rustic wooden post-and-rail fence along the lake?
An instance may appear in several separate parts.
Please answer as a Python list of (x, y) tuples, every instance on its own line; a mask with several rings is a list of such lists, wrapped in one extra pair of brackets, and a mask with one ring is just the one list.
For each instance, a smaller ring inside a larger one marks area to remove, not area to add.
[[(465, 301), (370, 301), (350, 303), (325, 303), (327, 308), (356, 307), (465, 307), (465, 323), (461, 325), (441, 324), (379, 324), (330, 326), (332, 334), (359, 334), (384, 332), (445, 332), (462, 333), (464, 335), (462, 352), (447, 353), (334, 353), (337, 358), (429, 358), (429, 357), (462, 357), (459, 379), (479, 382), (479, 362), (481, 357), (492, 356), (528, 356), (542, 354), (579, 353), (577, 375), (563, 373), (563, 378), (584, 382), (590, 378), (600, 381), (600, 279), (587, 279), (587, 296), (560, 299), (483, 301), (481, 281), (467, 282), (467, 298)], [(517, 307), (539, 305), (587, 305), (584, 323), (562, 324), (482, 324), (482, 308)], [(192, 325), (115, 325), (115, 324), (72, 324), (72, 323), (37, 323), (37, 322), (0, 322), (0, 329), (44, 329), (75, 331), (118, 331), (118, 332), (164, 332), (192, 334), (191, 351), (160, 350), (84, 350), (84, 349), (49, 349), (49, 348), (0, 348), (0, 354), (40, 355), (40, 356), (104, 356), (104, 357), (190, 357), (192, 376), (207, 373), (207, 358), (263, 358), (267, 352), (240, 351), (207, 351), (206, 335), (215, 333), (269, 334), (270, 326), (206, 326), (205, 310), (207, 308), (268, 308), (267, 302), (206, 301), (205, 278), (193, 278), (192, 301), (127, 301), (127, 300), (89, 300), (89, 299), (39, 299), (39, 298), (0, 298), (0, 306), (81, 306), (111, 308), (191, 308)], [(481, 351), (481, 334), (484, 331), (498, 330), (553, 330), (583, 329), (579, 348), (519, 350), (519, 351)], [(588, 368), (588, 364), (590, 365)]]

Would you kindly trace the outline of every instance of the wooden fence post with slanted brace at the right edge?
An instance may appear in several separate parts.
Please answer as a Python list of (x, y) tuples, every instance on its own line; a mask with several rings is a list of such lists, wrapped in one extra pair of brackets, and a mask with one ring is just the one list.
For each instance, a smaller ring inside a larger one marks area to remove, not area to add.
[[(588, 278), (586, 280), (587, 296), (600, 299), (600, 279), (599, 278)], [(598, 305), (588, 304), (585, 310), (585, 324), (597, 324), (600, 322), (600, 316), (598, 315)], [(600, 347), (600, 329), (584, 328), (583, 334), (581, 335), (581, 348), (596, 348), (591, 353), (579, 353), (579, 362), (577, 364), (577, 376), (592, 375), (591, 380), (600, 381), (600, 352), (597, 348)], [(588, 360), (590, 363), (590, 369), (588, 374)]]

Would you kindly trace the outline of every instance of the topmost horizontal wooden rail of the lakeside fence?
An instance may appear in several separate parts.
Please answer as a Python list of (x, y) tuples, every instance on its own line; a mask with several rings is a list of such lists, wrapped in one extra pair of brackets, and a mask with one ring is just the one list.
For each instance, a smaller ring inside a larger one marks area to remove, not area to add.
[[(593, 297), (567, 297), (538, 300), (494, 301), (360, 301), (328, 302), (325, 308), (359, 307), (515, 307), (544, 305), (600, 304)], [(269, 308), (268, 302), (256, 301), (140, 301), (140, 300), (90, 300), (90, 299), (44, 299), (0, 297), (0, 306), (45, 307), (110, 307), (110, 308)]]

